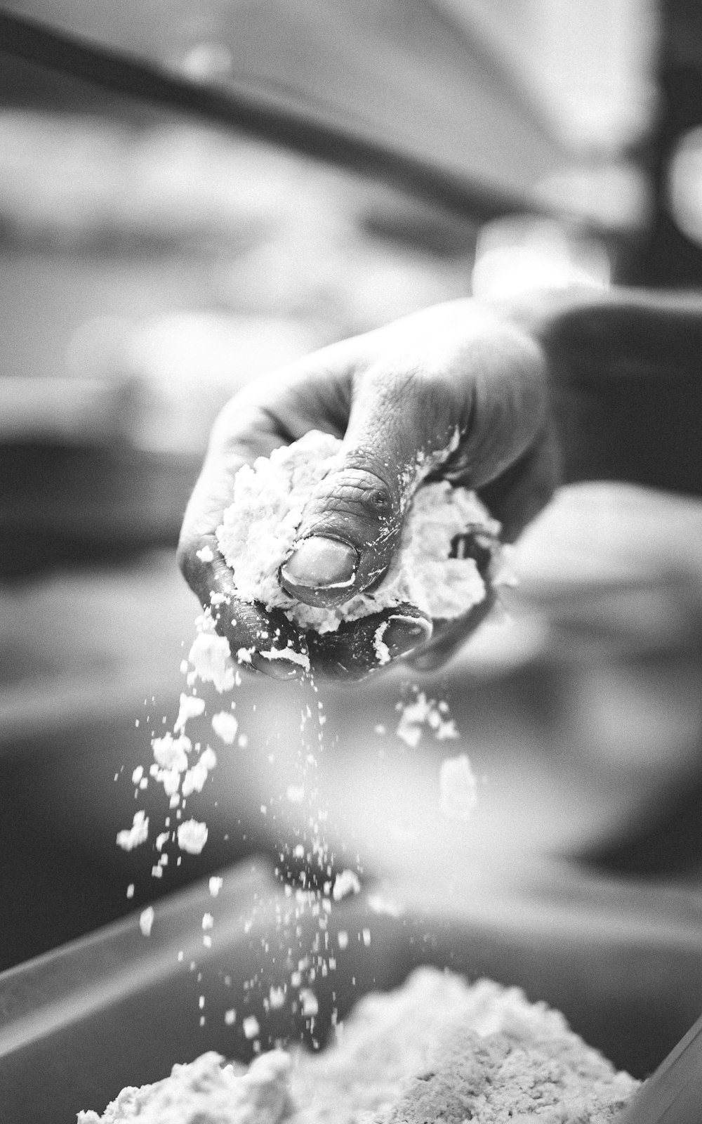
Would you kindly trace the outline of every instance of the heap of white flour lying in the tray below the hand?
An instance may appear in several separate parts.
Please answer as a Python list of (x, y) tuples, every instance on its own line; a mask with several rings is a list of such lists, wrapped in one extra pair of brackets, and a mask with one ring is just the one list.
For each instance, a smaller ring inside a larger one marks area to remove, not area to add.
[(637, 1086), (517, 988), (422, 968), (321, 1054), (203, 1054), (79, 1124), (611, 1124)]

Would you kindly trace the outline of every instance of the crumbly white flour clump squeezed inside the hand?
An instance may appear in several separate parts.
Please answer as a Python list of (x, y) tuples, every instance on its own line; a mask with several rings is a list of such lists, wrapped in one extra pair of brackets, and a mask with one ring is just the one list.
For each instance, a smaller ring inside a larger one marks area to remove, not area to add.
[(295, 547), (302, 509), (314, 488), (338, 463), (341, 442), (311, 430), (292, 445), (239, 469), (231, 505), (217, 531), (219, 549), (234, 571), (237, 591), (266, 609), (281, 608), (299, 628), (334, 632), (401, 604), (434, 620), (452, 619), (478, 605), (485, 582), (472, 558), (452, 558), (457, 535), (471, 534), (492, 555), (501, 553), (500, 524), (474, 492), (446, 481), (420, 484), (405, 514), (400, 549), (382, 583), (335, 608), (316, 608), (290, 597), (279, 570)]

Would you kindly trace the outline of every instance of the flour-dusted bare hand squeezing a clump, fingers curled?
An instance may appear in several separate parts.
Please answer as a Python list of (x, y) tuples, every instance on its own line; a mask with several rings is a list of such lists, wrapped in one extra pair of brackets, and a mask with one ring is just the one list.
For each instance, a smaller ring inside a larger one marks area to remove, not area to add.
[(384, 624), (391, 659), (412, 652), (416, 667), (439, 665), (485, 616), (490, 589), (465, 617), (436, 628), (408, 605), (306, 637), (282, 610), (237, 597), (216, 534), (234, 477), (310, 429), (341, 438), (341, 456), (303, 510), (281, 580), (299, 600), (330, 607), (382, 579), (427, 475), (476, 490), (505, 541), (546, 504), (556, 465), (539, 344), (505, 317), (459, 300), (325, 347), (225, 406), (188, 505), (180, 565), (235, 656), (246, 652), (253, 668), (292, 678), (302, 663), (284, 652), (303, 652), (316, 673), (359, 678), (379, 667), (374, 642)]

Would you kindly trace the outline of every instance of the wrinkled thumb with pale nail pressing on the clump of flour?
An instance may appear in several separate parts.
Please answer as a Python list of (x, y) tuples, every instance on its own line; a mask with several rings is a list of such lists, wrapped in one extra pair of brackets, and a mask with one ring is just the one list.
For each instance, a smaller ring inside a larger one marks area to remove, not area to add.
[(354, 378), (339, 459), (306, 505), (295, 549), (281, 568), (291, 596), (340, 605), (382, 579), (419, 478), (461, 427), (456, 413), (453, 396), (432, 393), (413, 374), (376, 365)]

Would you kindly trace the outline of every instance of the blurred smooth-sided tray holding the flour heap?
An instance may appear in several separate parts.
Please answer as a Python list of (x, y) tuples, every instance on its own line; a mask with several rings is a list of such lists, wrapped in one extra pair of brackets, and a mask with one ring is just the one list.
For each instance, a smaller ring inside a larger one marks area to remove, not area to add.
[[(335, 905), (336, 966), (317, 976), (310, 1028), (290, 1003), (266, 1014), (263, 999), (290, 980), (319, 918), (309, 908), (295, 918), (294, 894), (258, 862), (222, 873), (216, 898), (206, 882), (158, 903), (148, 937), (135, 914), (0, 976), (2, 1124), (73, 1124), (79, 1108), (101, 1112), (122, 1086), (157, 1080), (204, 1050), (246, 1060), (247, 1014), (264, 1028), (264, 1049), (300, 1033), (322, 1044), (335, 1006), (343, 1018), (359, 995), (400, 984), (419, 963), (519, 985), (639, 1077), (702, 1010), (702, 894), (546, 863), (459, 888), (372, 887)], [(204, 913), (213, 926), (203, 933)]]

